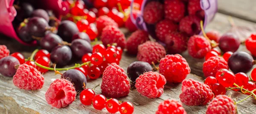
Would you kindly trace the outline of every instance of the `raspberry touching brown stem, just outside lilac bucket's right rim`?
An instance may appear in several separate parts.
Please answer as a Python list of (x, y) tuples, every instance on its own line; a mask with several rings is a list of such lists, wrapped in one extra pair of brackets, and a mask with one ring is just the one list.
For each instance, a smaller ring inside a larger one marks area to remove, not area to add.
[(194, 58), (203, 58), (210, 50), (211, 44), (203, 36), (191, 36), (188, 41), (189, 55)]

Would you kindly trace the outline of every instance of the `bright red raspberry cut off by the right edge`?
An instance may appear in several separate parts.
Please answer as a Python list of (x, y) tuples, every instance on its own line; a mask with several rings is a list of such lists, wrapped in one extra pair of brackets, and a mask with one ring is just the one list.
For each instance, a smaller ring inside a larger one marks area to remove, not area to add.
[(253, 56), (256, 56), (256, 34), (252, 34), (245, 40), (245, 46)]

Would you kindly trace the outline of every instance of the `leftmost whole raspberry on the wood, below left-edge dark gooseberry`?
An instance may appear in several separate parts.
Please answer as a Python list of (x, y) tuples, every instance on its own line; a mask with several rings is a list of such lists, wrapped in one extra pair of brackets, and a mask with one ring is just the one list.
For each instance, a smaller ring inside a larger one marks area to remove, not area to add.
[(41, 89), (44, 85), (44, 76), (33, 66), (21, 64), (13, 76), (13, 84), (20, 89)]

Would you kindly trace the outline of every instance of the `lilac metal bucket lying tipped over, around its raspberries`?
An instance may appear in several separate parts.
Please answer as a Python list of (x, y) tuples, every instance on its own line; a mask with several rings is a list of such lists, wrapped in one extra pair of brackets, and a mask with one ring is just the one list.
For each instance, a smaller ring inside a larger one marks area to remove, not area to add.
[[(141, 9), (140, 9), (141, 14), (138, 15), (138, 17), (136, 19), (134, 19), (134, 17), (132, 16), (132, 13), (130, 14), (131, 21), (137, 26), (138, 29), (148, 31), (148, 33), (153, 38), (157, 39), (157, 36), (155, 34), (154, 25), (146, 24), (143, 21), (143, 10), (144, 10), (145, 4), (148, 1), (152, 1), (152, 0), (143, 0), (142, 5), (141, 5)], [(133, 6), (133, 2), (134, 2), (134, 0), (132, 0), (132, 2), (131, 2), (131, 8)], [(216, 12), (218, 11), (218, 1), (217, 0), (200, 0), (200, 5), (201, 5), (201, 8), (204, 10), (204, 13), (205, 13), (205, 18), (204, 18), (204, 28), (205, 28), (206, 25), (209, 22), (212, 21)], [(202, 31), (199, 34), (201, 35)]]

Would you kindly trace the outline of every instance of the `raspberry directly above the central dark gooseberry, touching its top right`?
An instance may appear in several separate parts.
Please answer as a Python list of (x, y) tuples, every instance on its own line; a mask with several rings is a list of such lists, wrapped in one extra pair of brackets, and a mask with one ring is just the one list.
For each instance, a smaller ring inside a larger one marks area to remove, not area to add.
[(137, 59), (152, 64), (152, 62), (157, 63), (160, 61), (165, 55), (166, 50), (161, 44), (147, 41), (139, 45)]

